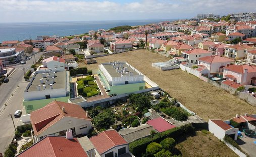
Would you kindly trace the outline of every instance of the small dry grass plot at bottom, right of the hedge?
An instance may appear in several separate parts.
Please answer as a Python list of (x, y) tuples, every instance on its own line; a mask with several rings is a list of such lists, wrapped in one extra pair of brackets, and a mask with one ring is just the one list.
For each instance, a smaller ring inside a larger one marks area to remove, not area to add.
[(197, 131), (196, 134), (175, 146), (182, 156), (237, 156), (210, 132)]

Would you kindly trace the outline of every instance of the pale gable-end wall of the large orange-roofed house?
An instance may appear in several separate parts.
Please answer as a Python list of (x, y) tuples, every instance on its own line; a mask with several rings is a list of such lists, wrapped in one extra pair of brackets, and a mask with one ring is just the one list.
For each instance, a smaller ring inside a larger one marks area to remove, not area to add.
[[(86, 129), (80, 130), (80, 127), (87, 125)], [(59, 121), (57, 121), (52, 126), (48, 127), (46, 130), (44, 130), (42, 133), (38, 134), (37, 137), (40, 139), (42, 136), (51, 135), (58, 133), (63, 130), (67, 130), (70, 128), (75, 128), (75, 134), (87, 134), (89, 133), (89, 130), (91, 129), (91, 121), (90, 120), (84, 120), (80, 118), (73, 118), (65, 116)]]

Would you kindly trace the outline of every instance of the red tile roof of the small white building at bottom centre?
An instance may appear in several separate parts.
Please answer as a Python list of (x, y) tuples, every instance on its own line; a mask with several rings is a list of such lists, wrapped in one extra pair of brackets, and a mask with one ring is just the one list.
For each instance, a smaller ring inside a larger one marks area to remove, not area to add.
[(103, 154), (115, 146), (128, 144), (116, 130), (103, 131), (96, 136), (91, 137), (90, 141), (99, 154)]

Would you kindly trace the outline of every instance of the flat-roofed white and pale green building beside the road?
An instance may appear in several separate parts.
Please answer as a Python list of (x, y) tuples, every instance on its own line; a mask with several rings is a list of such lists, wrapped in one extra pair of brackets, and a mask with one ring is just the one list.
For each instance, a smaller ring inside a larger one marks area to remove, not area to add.
[(53, 100), (68, 102), (69, 94), (68, 71), (42, 68), (32, 75), (24, 90), (23, 105), (29, 114)]

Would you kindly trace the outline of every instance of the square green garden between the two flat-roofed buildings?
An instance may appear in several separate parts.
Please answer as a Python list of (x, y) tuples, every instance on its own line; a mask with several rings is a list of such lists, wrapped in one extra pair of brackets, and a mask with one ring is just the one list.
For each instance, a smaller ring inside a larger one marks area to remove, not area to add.
[(87, 76), (77, 81), (77, 91), (83, 97), (92, 97), (100, 94), (97, 83), (93, 76)]

